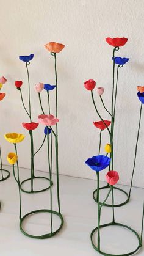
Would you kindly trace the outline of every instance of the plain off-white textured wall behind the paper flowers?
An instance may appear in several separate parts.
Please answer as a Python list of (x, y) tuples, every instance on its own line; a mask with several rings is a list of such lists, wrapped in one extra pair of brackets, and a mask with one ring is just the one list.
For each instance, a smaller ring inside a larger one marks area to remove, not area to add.
[[(84, 161), (98, 153), (99, 132), (93, 126), (99, 120), (93, 109), (90, 93), (84, 89), (87, 79), (95, 79), (103, 86), (103, 99), (110, 109), (112, 93), (112, 47), (105, 37), (127, 37), (128, 43), (118, 55), (130, 61), (120, 70), (115, 125), (115, 170), (120, 173), (120, 183), (129, 185), (134, 161), (134, 146), (139, 120), (140, 101), (137, 86), (144, 79), (144, 2), (143, 0), (7, 0), (1, 1), (1, 76), (8, 79), (2, 92), (7, 96), (1, 101), (1, 146), (3, 162), (13, 150), (3, 138), (8, 132), (26, 134), (18, 145), (20, 166), (30, 167), (29, 134), (21, 126), (29, 122), (20, 101), (20, 93), (14, 86), (15, 80), (24, 82), (23, 93), (27, 104), (27, 76), (20, 55), (35, 54), (29, 67), (31, 76), (32, 115), (37, 122), (41, 114), (38, 95), (34, 92), (37, 82), (54, 84), (54, 59), (44, 44), (56, 41), (65, 44), (57, 54), (59, 81), (59, 162), (60, 174), (95, 178)], [(48, 104), (46, 93), (41, 97)], [(54, 101), (54, 92), (51, 93)], [(109, 119), (98, 96), (96, 104), (104, 119)], [(54, 113), (52, 113), (54, 114)], [(135, 170), (135, 186), (144, 187), (144, 109)], [(43, 139), (43, 126), (34, 131), (35, 149)], [(104, 131), (103, 147), (109, 142)], [(104, 153), (104, 152), (103, 152)], [(35, 159), (35, 169), (47, 170), (46, 145)], [(104, 180), (106, 170), (101, 172)]]

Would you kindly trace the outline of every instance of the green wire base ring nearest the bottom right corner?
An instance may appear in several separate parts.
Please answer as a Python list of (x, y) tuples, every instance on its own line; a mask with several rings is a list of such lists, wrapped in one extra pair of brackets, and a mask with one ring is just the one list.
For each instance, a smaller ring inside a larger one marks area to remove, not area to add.
[(111, 226), (111, 225), (117, 225), (117, 226), (124, 227), (124, 228), (126, 228), (126, 229), (131, 230), (131, 231), (135, 234), (135, 236), (137, 236), (137, 240), (139, 241), (139, 245), (137, 246), (137, 248), (136, 248), (134, 251), (128, 252), (127, 254), (108, 254), (108, 253), (106, 253), (106, 252), (102, 252), (101, 250), (98, 250), (98, 247), (96, 247), (95, 244), (93, 243), (93, 234), (95, 233), (96, 230), (98, 230), (98, 227), (96, 227), (95, 229), (92, 230), (92, 233), (90, 234), (90, 240), (91, 240), (91, 243), (92, 243), (93, 248), (94, 248), (97, 252), (99, 252), (99, 254), (102, 254), (102, 255), (105, 255), (105, 256), (119, 256), (119, 255), (120, 255), (120, 256), (129, 256), (129, 255), (132, 255), (132, 254), (134, 254), (135, 252), (137, 252), (137, 251), (140, 249), (140, 247), (142, 247), (142, 243), (141, 243), (141, 240), (140, 240), (140, 236), (139, 236), (138, 233), (135, 232), (135, 230), (132, 229), (131, 227), (128, 227), (128, 226), (126, 226), (126, 225), (123, 225), (123, 224), (117, 223), (117, 222), (110, 222), (110, 223), (107, 223), (107, 224), (104, 224), (104, 225), (100, 225), (99, 228), (101, 229), (101, 228), (103, 228), (103, 227), (108, 227), (108, 226)]

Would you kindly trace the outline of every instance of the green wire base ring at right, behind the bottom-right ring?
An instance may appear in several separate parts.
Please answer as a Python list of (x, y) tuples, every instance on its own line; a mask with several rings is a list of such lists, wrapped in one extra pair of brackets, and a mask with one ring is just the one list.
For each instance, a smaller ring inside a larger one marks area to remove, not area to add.
[[(100, 189), (106, 189), (106, 188), (109, 188), (109, 185), (103, 186), (103, 187), (99, 188), (99, 190), (100, 190)], [(128, 193), (127, 193), (126, 191), (124, 191), (123, 189), (117, 188), (117, 187), (115, 187), (115, 186), (113, 186), (113, 189), (117, 189), (117, 190), (123, 192), (123, 193), (126, 195), (126, 197), (127, 197), (127, 199), (126, 199), (123, 203), (114, 204), (113, 207), (121, 207), (122, 205), (126, 205), (126, 203), (129, 202), (129, 198), (130, 198), (129, 195), (128, 195)], [(95, 202), (98, 202), (98, 200), (97, 200), (96, 197), (95, 197), (95, 193), (96, 193), (96, 192), (97, 192), (97, 189), (96, 189), (95, 191), (93, 191), (93, 199), (95, 200)], [(101, 203), (101, 202), (100, 202), (100, 203)], [(110, 203), (104, 203), (104, 206), (106, 206), (106, 207), (112, 207), (112, 205), (111, 205)]]

